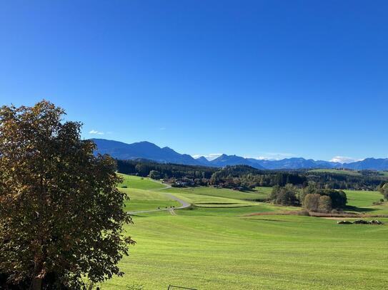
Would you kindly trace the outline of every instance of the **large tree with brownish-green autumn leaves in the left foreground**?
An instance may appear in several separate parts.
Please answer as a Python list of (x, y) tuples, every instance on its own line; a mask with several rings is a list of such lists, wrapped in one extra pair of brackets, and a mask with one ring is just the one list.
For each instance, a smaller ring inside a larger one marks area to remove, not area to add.
[[(121, 275), (134, 241), (115, 162), (47, 101), (0, 108), (0, 273), (9, 284), (79, 289)], [(1, 285), (0, 285), (1, 288)]]

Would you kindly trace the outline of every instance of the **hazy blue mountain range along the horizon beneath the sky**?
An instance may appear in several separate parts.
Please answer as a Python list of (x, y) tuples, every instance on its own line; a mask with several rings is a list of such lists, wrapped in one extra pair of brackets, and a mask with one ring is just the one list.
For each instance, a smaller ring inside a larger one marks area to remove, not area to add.
[(244, 158), (237, 155), (223, 154), (214, 160), (207, 160), (204, 156), (194, 158), (188, 154), (180, 154), (169, 147), (159, 147), (146, 141), (126, 144), (114, 140), (91, 139), (96, 143), (96, 153), (109, 154), (116, 159), (134, 160), (147, 159), (160, 163), (176, 163), (184, 165), (203, 165), (210, 167), (224, 167), (227, 165), (249, 165), (257, 169), (266, 170), (294, 170), (308, 168), (347, 168), (351, 170), (388, 170), (388, 158), (367, 158), (362, 161), (340, 163), (324, 160), (304, 159), (302, 157), (286, 158), (283, 160), (258, 160)]

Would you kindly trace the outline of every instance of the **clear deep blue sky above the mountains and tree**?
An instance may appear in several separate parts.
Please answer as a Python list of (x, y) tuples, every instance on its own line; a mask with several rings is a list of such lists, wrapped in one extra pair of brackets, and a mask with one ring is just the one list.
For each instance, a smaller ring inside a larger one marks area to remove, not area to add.
[(387, 1), (1, 1), (0, 103), (191, 155), (388, 157)]

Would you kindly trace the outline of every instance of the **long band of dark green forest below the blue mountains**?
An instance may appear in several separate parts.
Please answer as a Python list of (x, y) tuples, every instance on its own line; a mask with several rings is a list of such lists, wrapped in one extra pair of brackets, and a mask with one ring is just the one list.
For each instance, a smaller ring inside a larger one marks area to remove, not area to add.
[(194, 165), (161, 164), (149, 160), (117, 160), (118, 172), (163, 179), (172, 185), (212, 185), (237, 190), (257, 186), (284, 186), (287, 184), (318, 189), (376, 190), (388, 182), (388, 176), (364, 170), (357, 174), (338, 174), (309, 170), (257, 170), (248, 165), (224, 168)]

